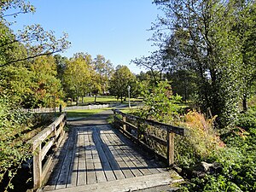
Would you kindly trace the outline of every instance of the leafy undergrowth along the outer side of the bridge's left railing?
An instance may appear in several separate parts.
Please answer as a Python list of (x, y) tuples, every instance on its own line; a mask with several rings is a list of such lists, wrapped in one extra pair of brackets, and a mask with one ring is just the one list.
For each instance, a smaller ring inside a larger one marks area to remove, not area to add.
[(31, 146), (26, 142), (49, 125), (52, 118), (47, 114), (23, 113), (7, 98), (0, 98), (0, 191), (15, 188), (13, 179), (22, 163), (32, 157)]

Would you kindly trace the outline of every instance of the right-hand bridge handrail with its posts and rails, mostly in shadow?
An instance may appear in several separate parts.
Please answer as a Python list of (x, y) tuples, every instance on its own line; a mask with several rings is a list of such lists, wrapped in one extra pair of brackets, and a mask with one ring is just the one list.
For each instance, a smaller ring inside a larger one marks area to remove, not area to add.
[[(121, 124), (121, 126), (117, 126), (117, 127), (121, 131), (123, 131), (123, 133), (125, 133), (126, 135), (131, 137), (131, 139), (136, 140), (137, 143), (141, 143), (144, 146), (146, 145), (147, 148), (149, 148), (150, 150), (153, 150), (153, 151), (154, 151), (154, 148), (150, 148), (146, 143), (143, 143), (141, 141), (142, 133), (140, 133), (140, 131), (139, 131), (140, 124), (152, 125), (152, 126), (160, 128), (163, 131), (166, 131), (167, 132), (166, 140), (164, 140), (160, 137), (154, 136), (152, 134), (149, 134), (149, 133), (147, 135), (143, 135), (143, 136), (154, 140), (154, 142), (157, 142), (157, 143), (160, 143), (161, 145), (166, 146), (167, 147), (167, 154), (166, 154), (167, 164), (168, 164), (168, 166), (172, 166), (174, 164), (174, 135), (178, 134), (178, 135), (184, 136), (185, 135), (184, 128), (173, 126), (173, 125), (167, 125), (167, 124), (160, 123), (160, 122), (150, 120), (150, 119), (143, 119), (143, 118), (137, 117), (135, 115), (123, 113), (123, 112), (119, 111), (118, 109), (113, 109), (113, 114), (114, 114), (114, 117), (113, 117), (114, 123), (116, 124), (116, 122), (118, 121)], [(116, 114), (120, 114), (122, 116), (122, 119), (119, 119)], [(138, 126), (132, 125), (131, 123), (127, 122), (126, 118), (137, 121)], [(132, 130), (137, 131), (137, 137), (134, 137), (129, 131), (127, 131), (126, 126), (129, 126)]]

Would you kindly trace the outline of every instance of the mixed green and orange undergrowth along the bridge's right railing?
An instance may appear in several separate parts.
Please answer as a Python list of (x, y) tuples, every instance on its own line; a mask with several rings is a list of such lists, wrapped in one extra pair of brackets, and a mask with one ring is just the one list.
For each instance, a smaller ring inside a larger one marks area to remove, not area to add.
[[(145, 106), (135, 113), (137, 116), (186, 129), (186, 136), (175, 137), (175, 166), (186, 180), (180, 192), (256, 191), (255, 108), (240, 113), (235, 126), (216, 130), (216, 117), (207, 119), (195, 110), (180, 113), (177, 105), (180, 97), (172, 96), (166, 82), (143, 89)], [(165, 131), (152, 126), (143, 129), (166, 139)], [(151, 147), (158, 153), (166, 153), (163, 146), (152, 143)], [(198, 170), (203, 163), (212, 168)]]

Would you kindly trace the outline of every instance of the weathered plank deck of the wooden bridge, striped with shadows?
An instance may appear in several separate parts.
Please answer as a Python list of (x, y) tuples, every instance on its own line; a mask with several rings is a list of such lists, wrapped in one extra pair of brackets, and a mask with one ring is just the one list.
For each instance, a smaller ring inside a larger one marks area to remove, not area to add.
[(43, 190), (129, 191), (171, 183), (170, 172), (134, 147), (109, 125), (73, 128)]

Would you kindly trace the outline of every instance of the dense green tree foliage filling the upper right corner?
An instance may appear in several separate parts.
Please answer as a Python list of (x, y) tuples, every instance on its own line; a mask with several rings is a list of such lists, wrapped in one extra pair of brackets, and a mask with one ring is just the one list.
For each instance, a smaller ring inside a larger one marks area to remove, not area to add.
[(164, 13), (152, 29), (165, 65), (195, 73), (201, 110), (218, 115), (220, 128), (234, 125), (239, 100), (247, 102), (255, 82), (255, 2), (154, 3)]

